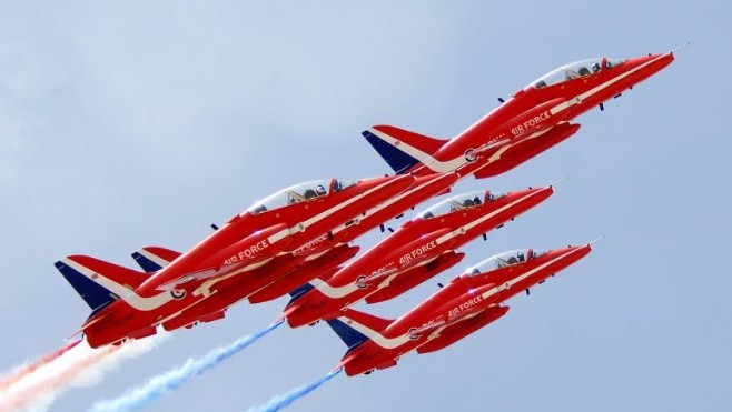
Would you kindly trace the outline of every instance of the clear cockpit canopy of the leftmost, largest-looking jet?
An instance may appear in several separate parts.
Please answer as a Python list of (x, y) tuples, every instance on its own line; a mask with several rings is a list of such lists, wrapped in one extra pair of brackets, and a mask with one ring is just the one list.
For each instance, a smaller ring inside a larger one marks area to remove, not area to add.
[(253, 214), (274, 210), (288, 204), (307, 202), (327, 195), (330, 192), (338, 192), (358, 183), (355, 180), (320, 179), (309, 182), (298, 183), (289, 188), (275, 192), (264, 200), (255, 203), (247, 211)]

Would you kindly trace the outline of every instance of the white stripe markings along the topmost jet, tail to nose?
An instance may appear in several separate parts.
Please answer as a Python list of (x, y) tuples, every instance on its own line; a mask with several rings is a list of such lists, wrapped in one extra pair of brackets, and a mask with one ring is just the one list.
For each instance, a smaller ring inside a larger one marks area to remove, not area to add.
[[(599, 84), (599, 86), (587, 90), (584, 93), (577, 94), (574, 98), (571, 98), (571, 99), (553, 107), (552, 109), (550, 109), (550, 112), (552, 113), (552, 115), (554, 115), (554, 114), (556, 114), (556, 113), (558, 113), (558, 112), (572, 107), (572, 105), (580, 104), (583, 100), (586, 100), (588, 97), (596, 94), (597, 92), (611, 87), (612, 84), (621, 81), (622, 79), (625, 79), (626, 77), (635, 73), (636, 71), (647, 67), (649, 64), (654, 63), (655, 61), (657, 61), (659, 59), (661, 59), (665, 56), (666, 54), (661, 54), (657, 58), (655, 58), (651, 61), (647, 61), (647, 62), (639, 66), (637, 68), (635, 68), (633, 70), (630, 70), (630, 71), (627, 71), (623, 74), (620, 74), (615, 78), (612, 78), (612, 79), (607, 80), (606, 82), (604, 82), (602, 84)], [(486, 115), (486, 118), (487, 118), (487, 115)], [(477, 121), (475, 124), (473, 124), (471, 128), (468, 128), (468, 130), (473, 129), (474, 127), (479, 124), (485, 118)], [(521, 141), (537, 138), (537, 137), (546, 133), (548, 130), (551, 130), (551, 129), (546, 129), (546, 130), (543, 130), (543, 131), (535, 132), (535, 133), (531, 134), (528, 138), (522, 139)], [(419, 149), (417, 149), (417, 148), (415, 148), (410, 144), (405, 143), (404, 141), (400, 141), (399, 139), (390, 137), (390, 135), (388, 135), (384, 132), (380, 132), (380, 131), (378, 131), (374, 128), (370, 128), (369, 132), (376, 134), (379, 139), (382, 139), (385, 142), (392, 144), (393, 147), (396, 147), (398, 150), (400, 150), (400, 151), (409, 154), (410, 157), (417, 159), (418, 161), (422, 162), (422, 164), (424, 164), (426, 168), (428, 168), (429, 170), (432, 170), (436, 173), (444, 173), (444, 172), (454, 171), (454, 170), (458, 169), (459, 167), (465, 165), (465, 164), (468, 163), (468, 161), (465, 159), (464, 155), (461, 155), (461, 157), (457, 157), (457, 158), (454, 158), (454, 159), (451, 159), (451, 160), (447, 160), (447, 161), (441, 161), (441, 160), (435, 159), (432, 155), (433, 153), (426, 153), (426, 152), (424, 152), (424, 151), (422, 151), (422, 150), (419, 150)], [(451, 144), (453, 141), (454, 140), (449, 140), (445, 145)], [(488, 159), (488, 162), (485, 165), (501, 159), (501, 155), (506, 150), (508, 150), (511, 147), (513, 147), (514, 144), (515, 143), (508, 143), (508, 144), (505, 145), (505, 149), (504, 148), (499, 149), (496, 153), (494, 153)], [(478, 151), (481, 150), (481, 148), (473, 148), (473, 149), (478, 150)], [(479, 169), (483, 169), (485, 165), (481, 167)], [(475, 173), (475, 171), (473, 173)]]

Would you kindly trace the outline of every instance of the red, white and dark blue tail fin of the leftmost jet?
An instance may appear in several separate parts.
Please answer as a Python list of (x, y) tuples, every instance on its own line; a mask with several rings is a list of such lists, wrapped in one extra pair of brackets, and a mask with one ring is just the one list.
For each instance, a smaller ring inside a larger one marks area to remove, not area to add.
[(148, 278), (145, 273), (83, 255), (67, 257), (56, 262), (56, 269), (95, 312)]

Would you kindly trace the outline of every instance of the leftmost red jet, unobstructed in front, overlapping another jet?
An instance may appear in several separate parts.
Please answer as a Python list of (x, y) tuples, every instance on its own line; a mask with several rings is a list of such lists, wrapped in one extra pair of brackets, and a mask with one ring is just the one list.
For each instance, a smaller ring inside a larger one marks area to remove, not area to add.
[(412, 175), (329, 179), (284, 189), (234, 215), (154, 274), (85, 255), (67, 257), (56, 268), (92, 309), (81, 328), (90, 346), (145, 338), (155, 334), (158, 324), (217, 293), (237, 274), (261, 275), (253, 269), (291, 254), (414, 181)]

